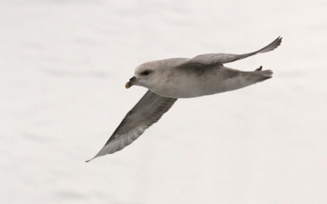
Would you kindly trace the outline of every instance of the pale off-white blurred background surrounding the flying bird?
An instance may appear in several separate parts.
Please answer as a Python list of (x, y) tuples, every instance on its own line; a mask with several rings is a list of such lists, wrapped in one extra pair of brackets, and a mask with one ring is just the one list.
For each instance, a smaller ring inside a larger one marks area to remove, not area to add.
[[(1, 1), (0, 203), (327, 203), (327, 1)], [(93, 157), (161, 58), (274, 77), (177, 100), (131, 146)]]

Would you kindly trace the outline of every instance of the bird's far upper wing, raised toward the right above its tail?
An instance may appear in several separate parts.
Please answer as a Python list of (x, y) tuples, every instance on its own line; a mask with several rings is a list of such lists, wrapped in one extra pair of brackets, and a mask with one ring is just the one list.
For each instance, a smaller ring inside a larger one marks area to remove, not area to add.
[(223, 65), (224, 63), (231, 63), (233, 61), (237, 61), (242, 58), (246, 58), (248, 56), (253, 56), (258, 53), (269, 52), (273, 49), (276, 49), (281, 42), (282, 42), (282, 38), (278, 37), (276, 38), (276, 40), (273, 40), (273, 42), (271, 42), (266, 47), (247, 54), (225, 54), (225, 53), (200, 54), (194, 58), (190, 58), (189, 60), (184, 61), (177, 67), (186, 68), (193, 65), (198, 65), (198, 66)]

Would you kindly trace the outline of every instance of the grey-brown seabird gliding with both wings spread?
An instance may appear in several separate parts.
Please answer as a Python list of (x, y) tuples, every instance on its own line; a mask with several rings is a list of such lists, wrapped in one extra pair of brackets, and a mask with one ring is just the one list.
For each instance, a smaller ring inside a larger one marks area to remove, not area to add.
[(278, 37), (266, 47), (247, 54), (201, 54), (194, 58), (168, 58), (139, 65), (125, 87), (143, 86), (148, 91), (122, 119), (93, 159), (122, 150), (138, 139), (178, 98), (233, 91), (270, 79), (273, 72), (262, 70), (262, 66), (245, 72), (227, 68), (224, 64), (272, 51), (281, 42), (282, 38)]

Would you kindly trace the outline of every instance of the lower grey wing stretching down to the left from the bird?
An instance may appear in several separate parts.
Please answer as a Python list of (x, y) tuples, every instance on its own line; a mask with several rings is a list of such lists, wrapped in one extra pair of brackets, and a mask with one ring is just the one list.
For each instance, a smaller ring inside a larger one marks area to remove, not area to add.
[[(156, 123), (163, 113), (166, 113), (173, 106), (176, 100), (177, 98), (161, 97), (150, 90), (147, 91), (133, 109), (127, 113), (125, 118), (122, 119), (122, 122), (113, 132), (109, 141), (106, 142), (95, 157), (122, 150), (122, 148), (138, 139), (147, 127)], [(92, 159), (95, 159), (95, 157)], [(86, 162), (90, 162), (90, 160)]]

